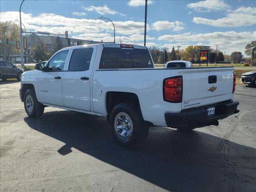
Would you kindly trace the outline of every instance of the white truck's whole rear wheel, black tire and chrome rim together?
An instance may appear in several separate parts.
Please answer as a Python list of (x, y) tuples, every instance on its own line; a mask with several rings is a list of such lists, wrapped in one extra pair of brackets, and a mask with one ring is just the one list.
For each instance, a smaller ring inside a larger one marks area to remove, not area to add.
[(149, 127), (136, 103), (117, 104), (111, 111), (109, 124), (114, 138), (124, 146), (133, 147), (147, 139)]

